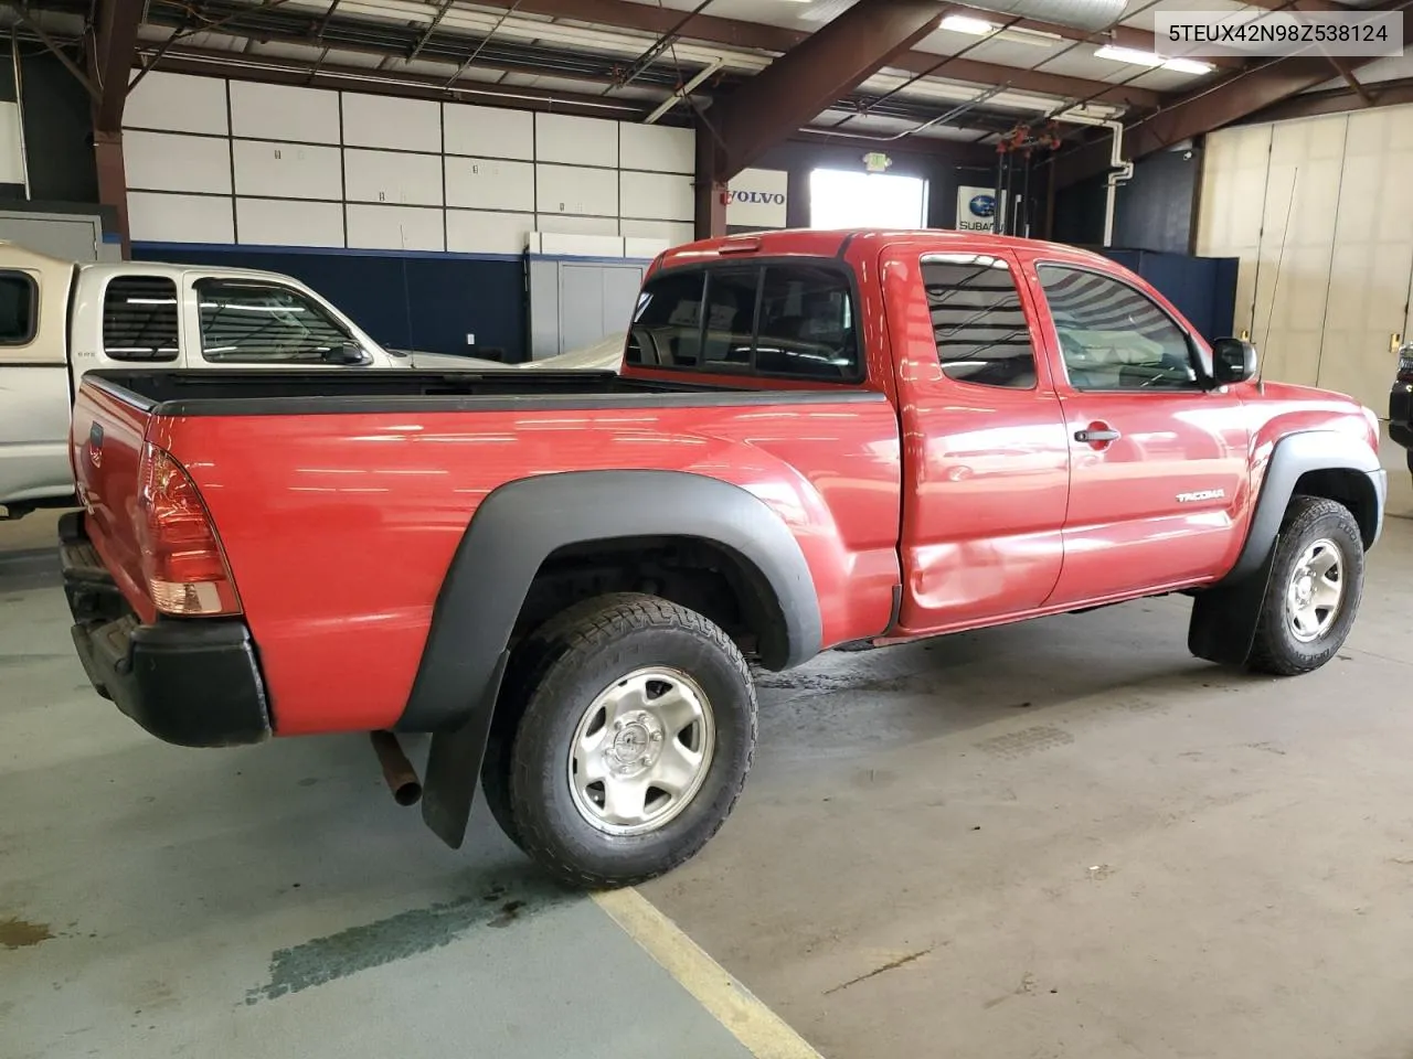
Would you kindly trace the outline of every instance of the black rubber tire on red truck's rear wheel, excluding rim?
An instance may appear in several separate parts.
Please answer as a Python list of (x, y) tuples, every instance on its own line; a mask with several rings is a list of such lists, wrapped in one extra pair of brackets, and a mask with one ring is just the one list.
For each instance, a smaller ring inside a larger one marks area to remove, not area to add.
[[(615, 594), (547, 623), (523, 645), (521, 658), (510, 690), (523, 709), (493, 767), (504, 778), (499, 810), (487, 794), (502, 826), (509, 820), (507, 833), (551, 875), (591, 890), (634, 885), (695, 856), (731, 815), (756, 746), (756, 692), (731, 638), (667, 600)], [(575, 803), (569, 747), (591, 703), (649, 666), (670, 666), (701, 689), (715, 722), (715, 751), (701, 786), (675, 816), (656, 830), (612, 834)]]

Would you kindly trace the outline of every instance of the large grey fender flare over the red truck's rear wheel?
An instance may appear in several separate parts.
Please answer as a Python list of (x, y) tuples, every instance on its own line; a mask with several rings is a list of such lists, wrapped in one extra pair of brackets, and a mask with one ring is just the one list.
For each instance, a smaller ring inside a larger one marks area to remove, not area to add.
[(437, 597), (398, 730), (447, 730), (478, 709), (550, 555), (632, 537), (691, 537), (733, 552), (779, 630), (762, 638), (762, 661), (786, 669), (820, 652), (824, 624), (804, 552), (755, 494), (685, 472), (540, 474), (500, 486), (476, 508)]

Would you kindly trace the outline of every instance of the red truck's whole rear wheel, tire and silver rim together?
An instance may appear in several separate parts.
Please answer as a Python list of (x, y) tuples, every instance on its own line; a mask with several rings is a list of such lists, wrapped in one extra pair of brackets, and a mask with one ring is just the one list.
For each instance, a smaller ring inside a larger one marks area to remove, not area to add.
[(561, 881), (633, 885), (692, 857), (750, 770), (756, 693), (695, 611), (610, 596), (555, 623), (509, 746), (521, 849)]

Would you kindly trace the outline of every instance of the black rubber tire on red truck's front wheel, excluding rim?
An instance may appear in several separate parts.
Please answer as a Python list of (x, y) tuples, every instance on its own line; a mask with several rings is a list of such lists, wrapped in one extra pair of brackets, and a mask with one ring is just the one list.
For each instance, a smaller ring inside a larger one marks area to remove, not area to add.
[[(1306, 549), (1320, 541), (1330, 541), (1340, 549), (1342, 593), (1334, 621), (1318, 637), (1304, 641), (1291, 628), (1289, 589)], [(1291, 498), (1280, 524), (1246, 668), (1272, 676), (1297, 676), (1318, 669), (1344, 645), (1362, 597), (1364, 538), (1349, 508), (1321, 497)]]

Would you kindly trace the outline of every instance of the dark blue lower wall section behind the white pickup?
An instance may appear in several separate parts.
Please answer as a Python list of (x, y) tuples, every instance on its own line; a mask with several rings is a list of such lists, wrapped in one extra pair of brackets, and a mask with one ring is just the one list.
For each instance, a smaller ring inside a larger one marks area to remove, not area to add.
[(465, 354), (475, 335), (478, 347), (503, 349), (509, 363), (526, 356), (521, 258), (153, 243), (134, 243), (133, 258), (292, 275), (394, 349)]

